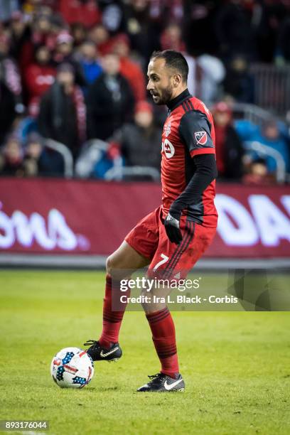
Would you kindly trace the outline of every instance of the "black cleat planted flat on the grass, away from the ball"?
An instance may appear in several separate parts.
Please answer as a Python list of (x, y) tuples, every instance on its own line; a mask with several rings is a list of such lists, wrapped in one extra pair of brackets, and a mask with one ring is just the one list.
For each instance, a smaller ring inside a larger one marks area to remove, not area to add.
[(141, 392), (170, 392), (179, 391), (183, 392), (186, 385), (184, 384), (183, 377), (181, 374), (178, 375), (176, 379), (163, 373), (157, 373), (157, 375), (149, 376), (151, 379), (148, 384), (143, 385), (143, 387), (138, 388), (137, 391)]

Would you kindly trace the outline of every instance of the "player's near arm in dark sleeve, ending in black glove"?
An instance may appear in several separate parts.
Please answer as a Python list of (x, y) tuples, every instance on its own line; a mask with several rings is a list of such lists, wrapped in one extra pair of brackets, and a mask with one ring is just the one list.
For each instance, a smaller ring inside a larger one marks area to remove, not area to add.
[(183, 209), (198, 203), (204, 190), (218, 176), (210, 122), (206, 115), (198, 111), (186, 112), (181, 119), (179, 134), (193, 158), (195, 173), (185, 190), (171, 204), (164, 222), (169, 240), (176, 244), (182, 240), (179, 221)]

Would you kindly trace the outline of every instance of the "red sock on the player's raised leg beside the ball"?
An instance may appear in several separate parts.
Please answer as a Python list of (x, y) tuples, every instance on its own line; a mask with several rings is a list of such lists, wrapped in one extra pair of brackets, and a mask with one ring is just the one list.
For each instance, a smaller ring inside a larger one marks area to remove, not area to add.
[[(119, 286), (112, 288), (112, 278), (109, 274), (106, 276), (106, 289), (104, 293), (103, 305), (103, 323), (102, 335), (100, 336), (100, 345), (109, 348), (112, 343), (119, 341), (119, 331), (121, 328), (124, 311), (126, 306), (120, 306), (118, 311), (112, 311), (112, 291), (120, 291)], [(124, 293), (123, 293), (124, 294)]]

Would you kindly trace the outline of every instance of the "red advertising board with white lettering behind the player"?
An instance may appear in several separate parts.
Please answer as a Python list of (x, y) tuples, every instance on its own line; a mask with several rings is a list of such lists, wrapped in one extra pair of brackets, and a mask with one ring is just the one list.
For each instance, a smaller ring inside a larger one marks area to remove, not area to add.
[[(0, 252), (106, 255), (159, 205), (160, 186), (0, 180)], [(219, 184), (218, 232), (207, 257), (290, 257), (290, 191)]]

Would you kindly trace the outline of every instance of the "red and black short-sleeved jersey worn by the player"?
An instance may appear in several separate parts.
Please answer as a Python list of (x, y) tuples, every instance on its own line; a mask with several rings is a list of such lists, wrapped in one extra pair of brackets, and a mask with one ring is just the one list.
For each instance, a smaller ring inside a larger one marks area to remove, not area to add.
[[(195, 173), (194, 157), (215, 154), (215, 129), (208, 108), (188, 90), (168, 104), (168, 117), (162, 134), (162, 208), (163, 218), (171, 203), (185, 190)], [(205, 227), (216, 227), (215, 180), (203, 190), (200, 198), (183, 210), (188, 220)]]

